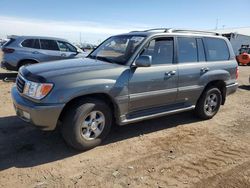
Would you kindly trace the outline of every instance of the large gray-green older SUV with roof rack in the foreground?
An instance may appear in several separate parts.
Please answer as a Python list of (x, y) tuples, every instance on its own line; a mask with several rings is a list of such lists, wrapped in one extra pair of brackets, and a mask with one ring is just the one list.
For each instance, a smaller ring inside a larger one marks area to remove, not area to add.
[(22, 67), (12, 88), (17, 115), (66, 142), (93, 148), (112, 123), (194, 110), (212, 118), (235, 92), (238, 65), (216, 33), (174, 29), (108, 38), (85, 59)]

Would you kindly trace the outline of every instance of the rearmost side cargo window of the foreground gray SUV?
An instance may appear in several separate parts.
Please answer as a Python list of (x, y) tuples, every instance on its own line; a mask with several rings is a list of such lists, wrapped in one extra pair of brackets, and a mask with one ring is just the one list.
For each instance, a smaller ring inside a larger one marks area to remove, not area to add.
[(223, 39), (206, 38), (207, 60), (222, 61), (229, 59), (229, 51)]

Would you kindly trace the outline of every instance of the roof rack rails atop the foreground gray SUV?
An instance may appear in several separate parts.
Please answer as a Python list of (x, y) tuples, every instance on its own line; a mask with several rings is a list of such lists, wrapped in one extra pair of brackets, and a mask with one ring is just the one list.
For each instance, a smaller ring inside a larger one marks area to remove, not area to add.
[[(210, 35), (221, 35), (219, 33), (216, 32), (212, 32), (212, 31), (200, 31), (200, 30), (188, 30), (188, 29), (172, 29), (172, 28), (155, 28), (155, 29), (148, 29), (148, 30), (144, 30), (141, 32), (152, 32), (152, 31), (163, 31), (164, 33), (196, 33), (196, 34), (210, 34)], [(140, 32), (140, 31), (131, 31), (132, 32)]]

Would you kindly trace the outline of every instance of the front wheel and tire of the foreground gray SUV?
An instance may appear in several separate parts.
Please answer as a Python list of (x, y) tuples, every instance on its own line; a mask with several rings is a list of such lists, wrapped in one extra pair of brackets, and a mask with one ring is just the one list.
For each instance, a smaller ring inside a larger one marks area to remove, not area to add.
[(112, 113), (108, 105), (101, 100), (88, 98), (69, 107), (61, 131), (68, 145), (84, 151), (100, 145), (111, 126)]

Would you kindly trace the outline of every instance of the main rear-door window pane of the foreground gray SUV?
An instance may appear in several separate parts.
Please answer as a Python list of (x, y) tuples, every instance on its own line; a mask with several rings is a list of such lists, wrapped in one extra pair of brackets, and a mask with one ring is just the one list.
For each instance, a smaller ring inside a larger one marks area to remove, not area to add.
[(197, 62), (197, 47), (195, 38), (178, 38), (178, 59), (180, 63)]

